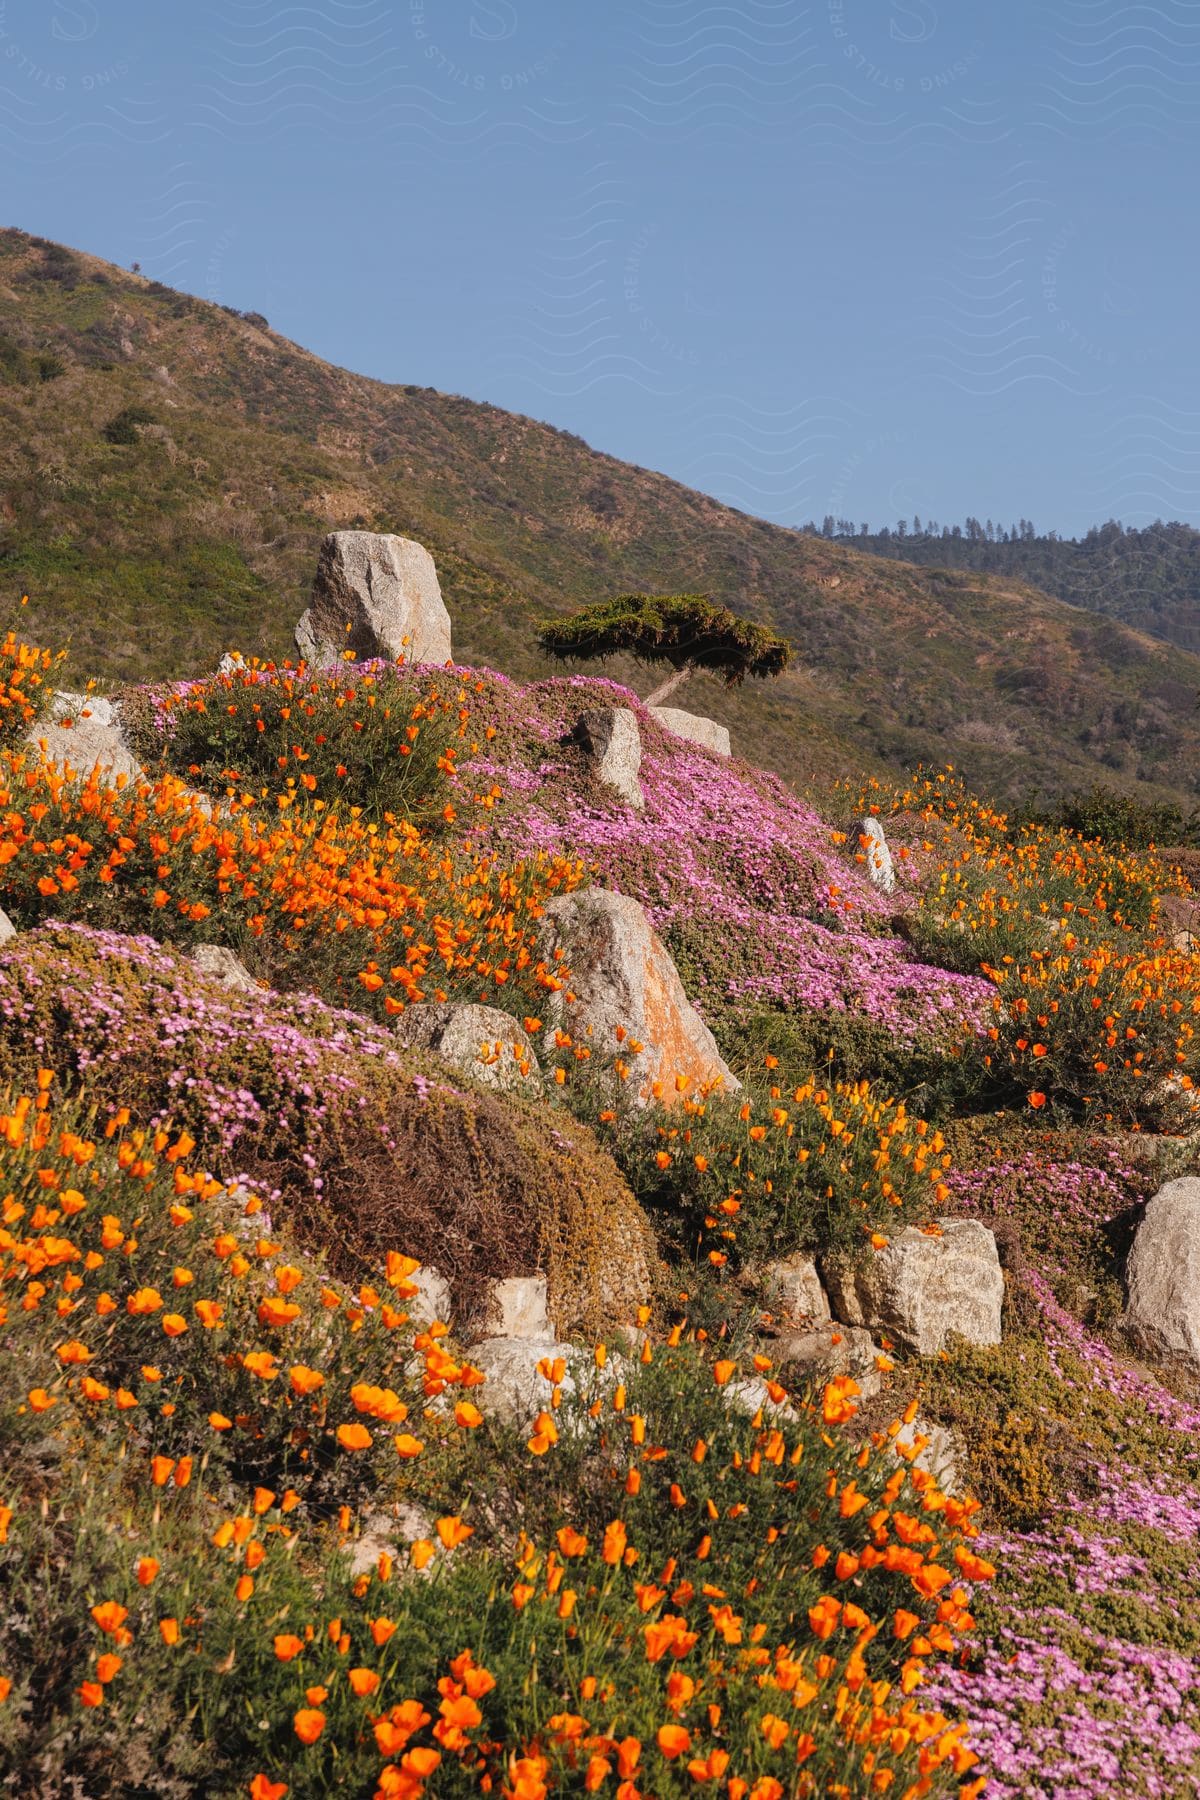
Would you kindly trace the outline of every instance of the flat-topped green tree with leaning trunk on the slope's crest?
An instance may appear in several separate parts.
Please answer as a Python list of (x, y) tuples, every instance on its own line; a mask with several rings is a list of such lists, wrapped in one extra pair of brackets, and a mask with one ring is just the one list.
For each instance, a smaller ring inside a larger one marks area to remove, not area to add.
[(619, 652), (639, 662), (667, 662), (675, 673), (648, 697), (648, 706), (666, 700), (694, 670), (736, 688), (747, 675), (781, 675), (792, 661), (786, 637), (718, 607), (707, 594), (617, 594), (569, 619), (547, 619), (538, 643), (563, 662)]

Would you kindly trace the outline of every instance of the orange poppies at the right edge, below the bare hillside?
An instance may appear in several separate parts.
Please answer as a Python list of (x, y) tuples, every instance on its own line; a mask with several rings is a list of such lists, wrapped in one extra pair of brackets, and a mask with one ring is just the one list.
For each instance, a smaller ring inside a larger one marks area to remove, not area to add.
[[(984, 1066), (1038, 1111), (1169, 1116), (1200, 1078), (1200, 956), (1160, 925), (1186, 877), (1155, 851), (1016, 828), (946, 776), (860, 796), (928, 832), (918, 929), (997, 986)], [(1166, 1085), (1164, 1085), (1166, 1084)]]

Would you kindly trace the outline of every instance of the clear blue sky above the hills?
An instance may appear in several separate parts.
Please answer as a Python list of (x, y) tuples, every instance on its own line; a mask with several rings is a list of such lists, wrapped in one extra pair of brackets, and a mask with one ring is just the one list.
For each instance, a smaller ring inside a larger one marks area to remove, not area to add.
[(1200, 524), (1195, 0), (0, 0), (4, 223), (783, 524)]

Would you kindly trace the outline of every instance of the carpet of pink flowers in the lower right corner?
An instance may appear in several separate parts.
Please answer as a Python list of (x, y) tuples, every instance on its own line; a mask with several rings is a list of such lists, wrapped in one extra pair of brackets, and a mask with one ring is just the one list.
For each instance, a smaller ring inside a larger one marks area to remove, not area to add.
[[(954, 1204), (982, 1217), (1015, 1183), (1051, 1238), (1130, 1206), (1115, 1154), (1110, 1170), (1025, 1156), (950, 1177)], [(1184, 1800), (1200, 1793), (1200, 1408), (1081, 1325), (1056, 1298), (1052, 1242), (1038, 1251), (1022, 1283), (1078, 1478), (1036, 1526), (984, 1534), (1004, 1570), (990, 1651), (939, 1674), (937, 1697), (970, 1710), (995, 1800)]]

